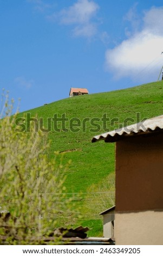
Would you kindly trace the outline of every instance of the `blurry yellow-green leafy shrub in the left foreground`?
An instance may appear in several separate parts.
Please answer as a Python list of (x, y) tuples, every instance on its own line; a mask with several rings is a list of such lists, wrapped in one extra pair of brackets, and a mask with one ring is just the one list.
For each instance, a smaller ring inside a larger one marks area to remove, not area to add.
[(67, 166), (57, 163), (57, 153), (49, 161), (45, 133), (32, 126), (28, 133), (15, 132), (16, 118), (15, 114), (0, 120), (0, 212), (10, 213), (9, 220), (0, 217), (0, 236), (9, 244), (29, 245), (70, 212), (63, 185)]

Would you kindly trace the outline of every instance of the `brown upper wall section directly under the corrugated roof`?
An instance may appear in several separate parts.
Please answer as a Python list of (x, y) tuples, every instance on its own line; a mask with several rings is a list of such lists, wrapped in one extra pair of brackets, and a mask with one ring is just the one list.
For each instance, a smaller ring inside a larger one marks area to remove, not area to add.
[(116, 211), (163, 209), (163, 133), (116, 143)]

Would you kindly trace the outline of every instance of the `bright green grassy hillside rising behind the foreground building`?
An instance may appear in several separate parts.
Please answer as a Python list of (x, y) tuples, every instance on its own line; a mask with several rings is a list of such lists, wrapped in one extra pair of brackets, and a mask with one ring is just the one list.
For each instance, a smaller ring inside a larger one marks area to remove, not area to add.
[[(81, 206), (83, 217), (76, 224), (92, 228), (89, 235), (102, 235), (102, 219), (97, 212), (100, 213), (110, 206), (103, 201), (106, 195), (109, 198), (105, 184), (108, 182), (108, 175), (114, 173), (115, 143), (92, 143), (91, 139), (106, 131), (105, 123), (102, 121), (105, 115), (110, 118), (107, 121), (107, 129), (114, 130), (124, 125), (126, 118), (129, 125), (143, 118), (162, 114), (163, 82), (108, 93), (71, 97), (27, 112), (31, 117), (37, 115), (38, 118), (43, 118), (45, 127), (48, 118), (54, 118), (54, 114), (57, 114), (58, 118), (61, 115), (62, 118), (66, 118), (65, 123), (62, 120), (62, 127), (60, 121), (57, 127), (55, 122), (55, 130), (61, 131), (55, 131), (54, 122), (51, 122), (51, 131), (48, 132), (48, 138), (51, 139), (49, 158), (54, 156), (54, 151), (59, 151), (59, 155), (65, 153), (64, 162), (72, 160), (67, 170), (66, 187), (68, 196), (81, 192), (76, 198), (76, 207)], [(105, 195), (104, 199), (101, 194)]]

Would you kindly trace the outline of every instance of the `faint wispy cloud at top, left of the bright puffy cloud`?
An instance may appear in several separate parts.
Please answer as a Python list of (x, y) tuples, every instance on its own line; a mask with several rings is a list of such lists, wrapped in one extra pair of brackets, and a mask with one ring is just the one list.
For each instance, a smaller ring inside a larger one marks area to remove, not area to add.
[(62, 25), (74, 25), (73, 34), (75, 36), (86, 36), (90, 38), (96, 34), (97, 25), (93, 21), (96, 12), (99, 9), (94, 1), (78, 0), (66, 9), (62, 9), (59, 13), (48, 16), (48, 19), (59, 22)]

